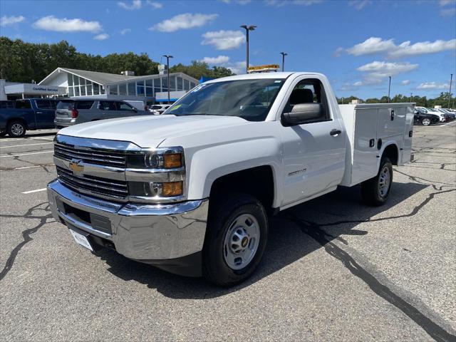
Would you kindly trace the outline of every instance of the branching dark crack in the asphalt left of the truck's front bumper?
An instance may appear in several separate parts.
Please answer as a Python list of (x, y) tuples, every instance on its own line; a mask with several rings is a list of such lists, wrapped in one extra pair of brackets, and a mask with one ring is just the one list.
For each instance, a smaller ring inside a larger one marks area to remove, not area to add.
[[(47, 204), (45, 207), (43, 204)], [(14, 247), (14, 249), (11, 251), (9, 254), (8, 259), (6, 259), (6, 264), (4, 268), (0, 271), (0, 281), (4, 279), (6, 274), (8, 274), (9, 271), (11, 271), (11, 268), (14, 265), (14, 261), (16, 260), (17, 254), (19, 254), (19, 251), (24, 247), (28, 242), (31, 242), (33, 239), (30, 237), (31, 234), (38, 232), (38, 229), (43, 227), (45, 224), (55, 222), (55, 221), (49, 221), (48, 219), (52, 218), (52, 214), (46, 214), (45, 216), (39, 216), (34, 214), (33, 212), (37, 210), (42, 210), (44, 212), (50, 212), (51, 210), (49, 209), (49, 204), (48, 202), (43, 202), (40, 204), (37, 204), (30, 209), (27, 210), (26, 214), (24, 215), (13, 215), (13, 214), (0, 214), (0, 217), (17, 217), (17, 218), (24, 218), (24, 219), (39, 219), (38, 224), (35, 227), (25, 229), (22, 231), (22, 237), (23, 240), (19, 242), (19, 244)]]

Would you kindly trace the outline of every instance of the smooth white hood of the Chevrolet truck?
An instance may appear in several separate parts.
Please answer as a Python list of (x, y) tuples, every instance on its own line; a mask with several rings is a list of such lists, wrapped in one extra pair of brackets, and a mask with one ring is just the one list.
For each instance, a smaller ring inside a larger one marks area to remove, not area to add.
[(235, 116), (147, 115), (81, 123), (63, 128), (58, 134), (79, 138), (129, 141), (140, 147), (158, 147), (167, 138), (248, 124), (249, 121)]

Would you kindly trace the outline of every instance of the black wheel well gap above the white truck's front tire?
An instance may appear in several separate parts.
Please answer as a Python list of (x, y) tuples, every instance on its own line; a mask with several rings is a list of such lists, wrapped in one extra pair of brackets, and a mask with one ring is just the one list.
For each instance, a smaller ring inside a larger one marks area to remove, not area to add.
[(272, 210), (274, 201), (274, 177), (270, 166), (253, 167), (219, 177), (212, 183), (210, 197), (227, 192), (242, 192), (252, 195), (263, 204), (266, 211)]

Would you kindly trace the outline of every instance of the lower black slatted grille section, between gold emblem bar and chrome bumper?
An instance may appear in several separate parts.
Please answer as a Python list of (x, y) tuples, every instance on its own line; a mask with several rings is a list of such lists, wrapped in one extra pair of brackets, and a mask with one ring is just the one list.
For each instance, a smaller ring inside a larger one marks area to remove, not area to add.
[(123, 180), (110, 180), (108, 178), (90, 175), (75, 175), (71, 170), (57, 166), (58, 179), (64, 185), (76, 192), (85, 192), (113, 199), (125, 199), (128, 197), (127, 182)]

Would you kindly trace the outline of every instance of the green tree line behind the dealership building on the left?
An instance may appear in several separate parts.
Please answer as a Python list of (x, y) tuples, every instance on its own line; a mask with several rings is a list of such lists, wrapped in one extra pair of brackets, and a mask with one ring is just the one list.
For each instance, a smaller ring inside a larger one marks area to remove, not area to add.
[[(107, 56), (76, 51), (68, 41), (59, 43), (26, 43), (21, 39), (0, 37), (0, 78), (11, 82), (40, 82), (56, 68), (72, 68), (101, 73), (134, 71), (136, 76), (158, 73), (158, 64), (147, 55), (133, 52), (110, 53)], [(181, 63), (170, 72), (182, 72), (194, 78), (202, 76), (219, 78), (233, 75), (228, 68), (209, 67), (207, 63), (192, 61), (189, 66)]]

